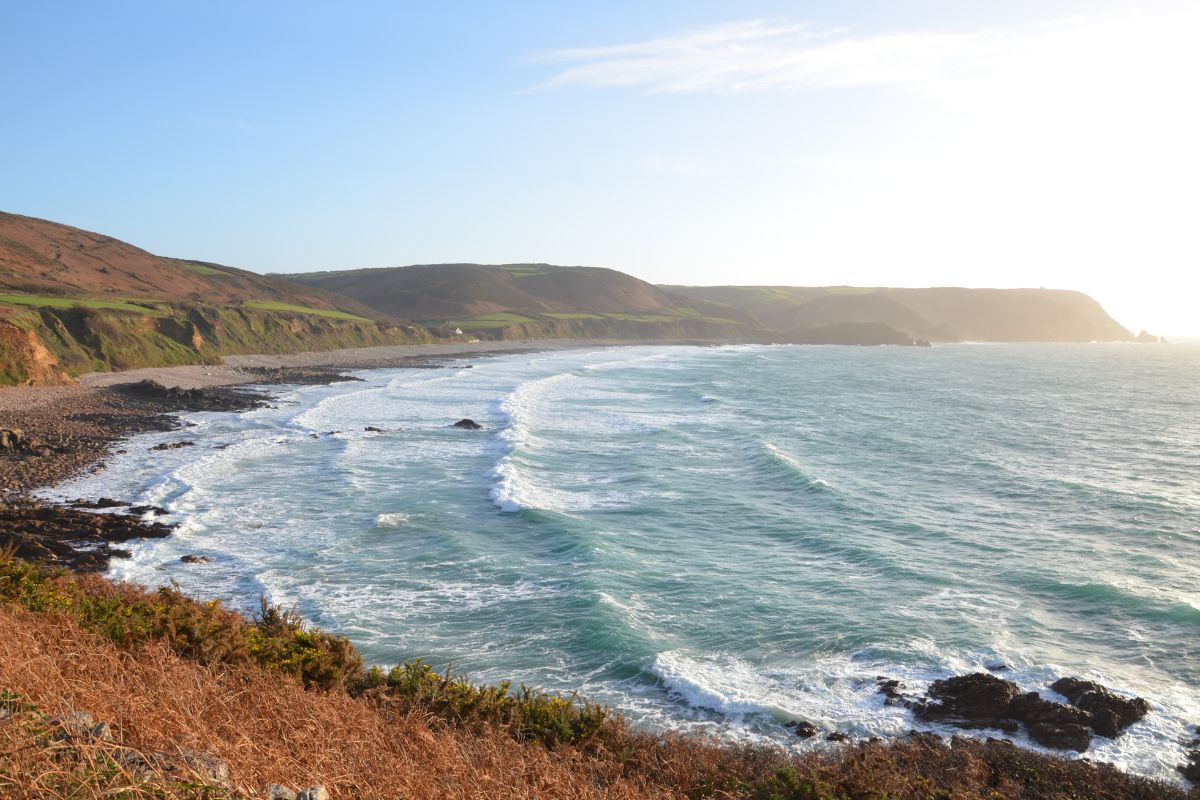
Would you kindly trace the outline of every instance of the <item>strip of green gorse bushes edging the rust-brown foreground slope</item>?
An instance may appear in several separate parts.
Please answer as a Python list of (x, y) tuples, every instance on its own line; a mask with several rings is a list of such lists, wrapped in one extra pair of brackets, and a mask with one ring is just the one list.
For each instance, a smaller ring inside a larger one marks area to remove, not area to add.
[(347, 638), (310, 627), (294, 610), (265, 599), (248, 620), (217, 600), (192, 600), (178, 587), (145, 591), (29, 564), (8, 552), (0, 553), (0, 602), (66, 613), (122, 648), (161, 642), (203, 664), (263, 667), (324, 691), (373, 691), (450, 723), (502, 727), (521, 741), (583, 746), (612, 720), (605, 706), (575, 696), (512, 690), (509, 682), (478, 686), (420, 658), (388, 673), (367, 670)]

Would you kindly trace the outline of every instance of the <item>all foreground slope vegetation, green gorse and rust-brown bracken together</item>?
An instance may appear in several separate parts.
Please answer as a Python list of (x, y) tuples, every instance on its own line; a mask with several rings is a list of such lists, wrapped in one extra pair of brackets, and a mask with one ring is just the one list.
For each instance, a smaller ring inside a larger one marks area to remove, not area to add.
[[(917, 735), (788, 754), (637, 732), (607, 709), (366, 668), (342, 637), (0, 553), (0, 796), (1146, 798), (1182, 789), (1002, 741)], [(113, 734), (64, 735), (83, 709)], [(187, 748), (185, 751), (184, 748)], [(228, 783), (188, 768), (211, 753)], [(1200, 796), (1193, 793), (1192, 798)]]

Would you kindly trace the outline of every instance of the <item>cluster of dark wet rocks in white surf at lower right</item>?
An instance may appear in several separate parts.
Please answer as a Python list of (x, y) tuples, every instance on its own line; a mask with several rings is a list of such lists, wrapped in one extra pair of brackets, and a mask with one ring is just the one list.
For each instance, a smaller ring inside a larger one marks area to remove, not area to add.
[(1150, 711), (1150, 704), (1140, 697), (1121, 697), (1078, 678), (1062, 678), (1051, 686), (1070, 705), (1048, 700), (1037, 692), (1021, 692), (1013, 681), (988, 673), (936, 680), (922, 699), (905, 697), (896, 680), (880, 678), (876, 684), (887, 697), (886, 704), (902, 704), (918, 720), (1006, 733), (1016, 733), (1024, 724), (1039, 745), (1080, 753), (1091, 746), (1092, 732), (1116, 736)]

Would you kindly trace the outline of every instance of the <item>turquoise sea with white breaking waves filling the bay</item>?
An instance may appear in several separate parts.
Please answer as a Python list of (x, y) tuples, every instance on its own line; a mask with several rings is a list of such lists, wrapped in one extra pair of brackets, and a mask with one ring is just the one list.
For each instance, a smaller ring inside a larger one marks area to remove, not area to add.
[[(359, 374), (187, 415), (199, 446), (139, 437), (62, 494), (181, 523), (118, 577), (265, 593), (376, 662), (578, 690), (659, 729), (899, 734), (914, 722), (876, 675), (920, 688), (996, 662), (1026, 688), (1072, 674), (1148, 698), (1090, 753), (1128, 769), (1174, 777), (1200, 722), (1200, 347), (647, 347)], [(448, 427), (463, 416), (485, 429)]]

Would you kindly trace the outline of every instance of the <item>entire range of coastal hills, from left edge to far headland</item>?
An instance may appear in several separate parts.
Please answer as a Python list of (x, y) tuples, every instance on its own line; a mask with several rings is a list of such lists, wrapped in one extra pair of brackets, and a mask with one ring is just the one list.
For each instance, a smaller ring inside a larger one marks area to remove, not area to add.
[(476, 338), (914, 344), (1134, 336), (1078, 291), (655, 285), (612, 269), (552, 264), (263, 276), (0, 212), (0, 384)]

